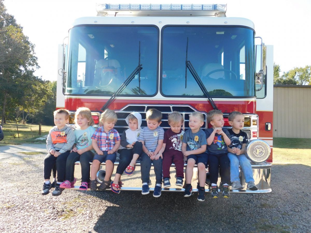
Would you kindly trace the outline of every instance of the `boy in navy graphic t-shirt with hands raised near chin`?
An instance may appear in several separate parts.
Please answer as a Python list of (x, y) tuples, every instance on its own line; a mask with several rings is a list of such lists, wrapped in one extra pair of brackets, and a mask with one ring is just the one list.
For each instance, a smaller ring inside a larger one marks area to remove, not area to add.
[(207, 119), (212, 128), (205, 130), (208, 150), (208, 170), (211, 180), (211, 196), (217, 198), (218, 194), (218, 173), (220, 168), (220, 177), (222, 182), (222, 197), (229, 198), (230, 183), (230, 161), (227, 156), (227, 146), (230, 145), (230, 134), (224, 126), (224, 117), (219, 110), (211, 110), (207, 113)]

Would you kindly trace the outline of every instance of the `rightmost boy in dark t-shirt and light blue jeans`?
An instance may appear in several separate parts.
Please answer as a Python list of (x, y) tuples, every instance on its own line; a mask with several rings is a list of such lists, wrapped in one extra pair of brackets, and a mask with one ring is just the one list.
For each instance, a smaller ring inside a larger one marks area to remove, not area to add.
[(244, 115), (241, 112), (231, 112), (228, 120), (230, 126), (232, 126), (232, 129), (228, 130), (231, 140), (231, 144), (228, 147), (231, 188), (237, 190), (243, 189), (239, 178), (240, 165), (245, 176), (245, 182), (247, 183), (247, 190), (258, 190), (254, 183), (251, 163), (244, 154), (245, 146), (248, 143), (247, 134), (241, 130), (244, 127)]

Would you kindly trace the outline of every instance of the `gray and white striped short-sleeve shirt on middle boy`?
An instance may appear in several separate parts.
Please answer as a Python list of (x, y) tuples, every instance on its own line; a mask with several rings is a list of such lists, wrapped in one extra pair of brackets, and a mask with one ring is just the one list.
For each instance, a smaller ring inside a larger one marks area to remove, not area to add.
[(158, 126), (155, 130), (145, 127), (140, 132), (138, 140), (144, 141), (147, 150), (154, 152), (158, 146), (158, 140), (164, 139), (164, 130)]

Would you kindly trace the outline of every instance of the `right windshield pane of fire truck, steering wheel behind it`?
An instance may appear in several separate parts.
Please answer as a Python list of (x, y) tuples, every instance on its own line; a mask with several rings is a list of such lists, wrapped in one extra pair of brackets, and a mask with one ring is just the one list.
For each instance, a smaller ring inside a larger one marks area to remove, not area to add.
[[(243, 27), (166, 26), (162, 29), (161, 93), (203, 96), (185, 58), (212, 97), (254, 96), (254, 32)], [(173, 87), (173, 88), (172, 88)]]

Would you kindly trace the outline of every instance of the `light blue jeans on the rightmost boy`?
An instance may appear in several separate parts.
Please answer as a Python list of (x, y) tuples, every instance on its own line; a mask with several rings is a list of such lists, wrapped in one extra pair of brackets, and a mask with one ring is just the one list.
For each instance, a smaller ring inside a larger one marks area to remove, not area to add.
[(230, 181), (239, 181), (239, 165), (242, 167), (242, 171), (245, 176), (245, 182), (255, 181), (253, 178), (253, 169), (251, 162), (245, 156), (245, 154), (236, 155), (233, 153), (228, 153), (228, 158), (230, 160)]

